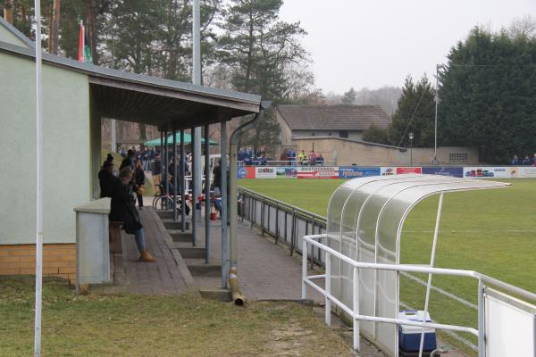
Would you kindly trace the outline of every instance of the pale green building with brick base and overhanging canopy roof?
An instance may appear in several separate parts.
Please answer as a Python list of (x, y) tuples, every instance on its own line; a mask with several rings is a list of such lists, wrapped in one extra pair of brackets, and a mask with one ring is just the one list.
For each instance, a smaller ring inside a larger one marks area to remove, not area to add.
[[(0, 18), (0, 275), (33, 273), (36, 85), (33, 43)], [(43, 54), (44, 273), (73, 278), (73, 208), (98, 197), (101, 118), (190, 129), (259, 112), (261, 98)], [(70, 263), (66, 263), (70, 262)]]

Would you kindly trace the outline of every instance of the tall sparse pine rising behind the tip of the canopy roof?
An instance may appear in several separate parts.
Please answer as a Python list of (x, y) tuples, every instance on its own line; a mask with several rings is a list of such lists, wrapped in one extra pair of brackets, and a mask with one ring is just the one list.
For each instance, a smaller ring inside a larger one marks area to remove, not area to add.
[[(232, 87), (262, 95), (274, 103), (288, 97), (292, 70), (308, 61), (299, 43), (306, 35), (299, 23), (279, 19), (282, 0), (230, 0), (219, 39), (222, 62), (230, 67)], [(295, 78), (293, 78), (295, 79)], [(280, 141), (281, 128), (266, 115), (246, 133), (243, 143), (258, 147)]]

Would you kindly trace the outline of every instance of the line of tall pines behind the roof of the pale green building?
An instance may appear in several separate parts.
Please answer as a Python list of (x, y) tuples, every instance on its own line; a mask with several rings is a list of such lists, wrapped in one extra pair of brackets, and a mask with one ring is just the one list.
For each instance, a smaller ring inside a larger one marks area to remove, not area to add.
[[(262, 95), (273, 103), (305, 103), (318, 93), (301, 44), (299, 22), (281, 21), (282, 0), (201, 0), (202, 82)], [(0, 0), (4, 18), (35, 39), (32, 0)], [(43, 0), (43, 48), (77, 58), (85, 22), (92, 61), (117, 70), (190, 81), (191, 0)], [(249, 143), (279, 136), (270, 116)], [(140, 128), (141, 136), (145, 130)], [(253, 142), (252, 142), (253, 141)]]

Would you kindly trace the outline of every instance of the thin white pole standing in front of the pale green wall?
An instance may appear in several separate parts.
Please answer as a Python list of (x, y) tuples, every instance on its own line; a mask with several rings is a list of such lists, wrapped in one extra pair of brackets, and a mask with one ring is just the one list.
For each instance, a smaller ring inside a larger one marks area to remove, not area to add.
[(41, 356), (41, 300), (43, 290), (43, 89), (41, 85), (41, 1), (35, 0), (36, 18), (36, 107), (37, 107), (37, 227), (36, 227), (36, 314), (34, 356)]

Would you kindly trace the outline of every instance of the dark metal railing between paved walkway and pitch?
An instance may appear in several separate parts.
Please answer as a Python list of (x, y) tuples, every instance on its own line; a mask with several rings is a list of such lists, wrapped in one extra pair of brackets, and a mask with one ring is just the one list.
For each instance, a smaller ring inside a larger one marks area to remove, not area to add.
[[(326, 232), (326, 219), (316, 213), (297, 208), (289, 203), (260, 195), (255, 191), (239, 187), (239, 217), (257, 226), (263, 234), (275, 239), (275, 244), (289, 246), (290, 255), (301, 254), (302, 238)], [(322, 265), (324, 256), (318, 249), (309, 257), (311, 267)]]

